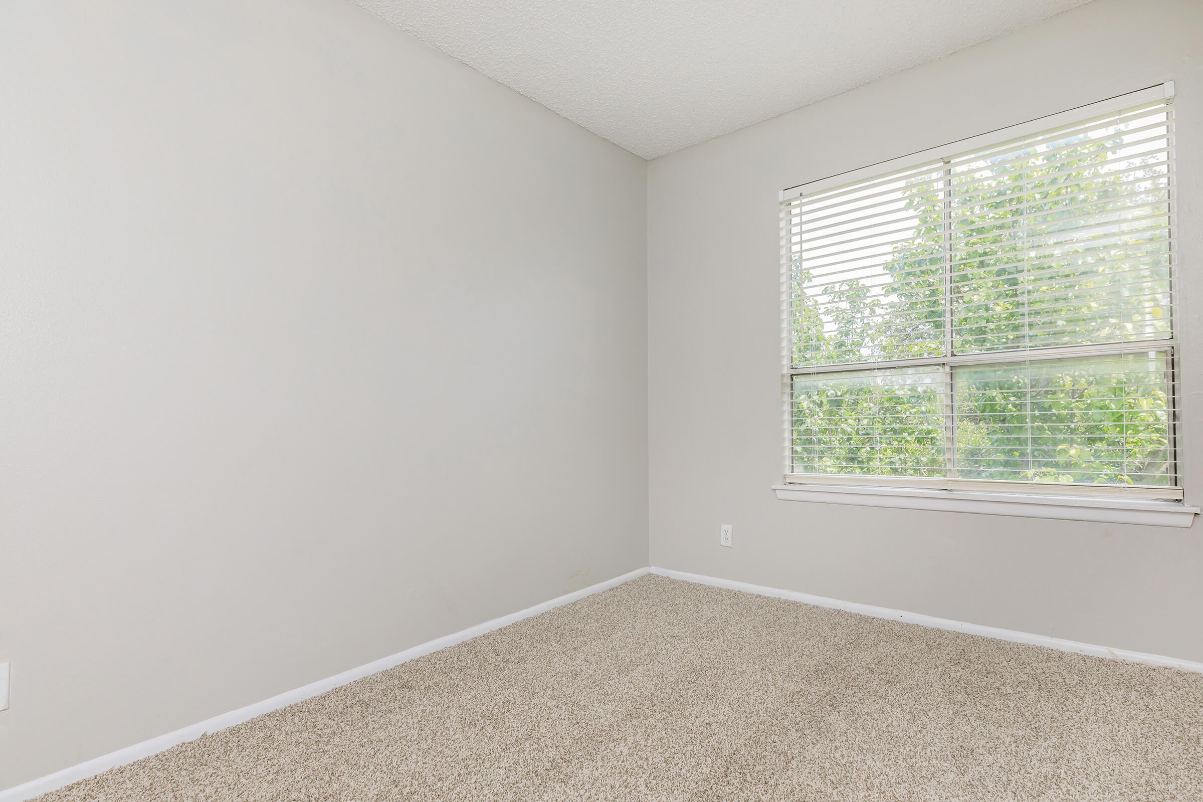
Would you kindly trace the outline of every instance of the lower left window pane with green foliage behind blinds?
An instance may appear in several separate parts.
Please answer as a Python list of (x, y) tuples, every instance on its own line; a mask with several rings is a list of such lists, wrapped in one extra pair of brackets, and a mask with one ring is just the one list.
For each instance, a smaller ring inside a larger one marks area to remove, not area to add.
[(940, 368), (795, 376), (798, 474), (946, 476)]

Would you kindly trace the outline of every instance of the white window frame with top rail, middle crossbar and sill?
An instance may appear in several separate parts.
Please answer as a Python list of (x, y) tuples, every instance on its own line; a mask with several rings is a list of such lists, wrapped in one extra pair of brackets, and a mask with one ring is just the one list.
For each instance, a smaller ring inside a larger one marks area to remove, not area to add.
[[(787, 201), (800, 195), (812, 195), (826, 189), (853, 184), (858, 180), (876, 178), (895, 170), (905, 170), (924, 162), (947, 162), (953, 153), (965, 153), (977, 148), (991, 147), (1011, 138), (1018, 138), (1057, 127), (1066, 124), (1077, 123), (1096, 114), (1106, 114), (1112, 111), (1137, 106), (1144, 102), (1165, 100), (1173, 102), (1174, 84), (1167, 82), (1155, 87), (1119, 95), (1097, 103), (1077, 107), (1038, 119), (1029, 120), (1014, 126), (1008, 126), (996, 131), (960, 139), (938, 148), (912, 153), (899, 159), (878, 162), (840, 173), (828, 178), (799, 184), (787, 190), (782, 190), (778, 200)], [(1171, 225), (1174, 225), (1173, 219)], [(787, 254), (787, 244), (782, 244), (783, 261)], [(1172, 279), (1173, 280), (1173, 279)], [(835, 475), (835, 474), (793, 474), (789, 469), (793, 464), (792, 450), (792, 398), (793, 379), (798, 375), (814, 375), (822, 373), (847, 373), (849, 370), (872, 370), (884, 368), (908, 368), (908, 367), (944, 367), (946, 373), (955, 366), (972, 364), (997, 364), (1000, 362), (1036, 362), (1051, 358), (1088, 357), (1101, 355), (1134, 354), (1149, 351), (1166, 351), (1169, 355), (1171, 370), (1175, 374), (1171, 378), (1172, 390), (1175, 397), (1180, 397), (1178, 391), (1178, 339), (1177, 332), (1172, 332), (1172, 338), (1161, 340), (1139, 340), (1132, 343), (1113, 343), (1106, 345), (1077, 345), (1049, 347), (1041, 350), (1013, 350), (992, 351), (986, 354), (953, 355), (948, 354), (914, 360), (895, 360), (889, 362), (865, 362), (855, 364), (812, 366), (795, 368), (790, 361), (790, 309), (784, 302), (788, 297), (788, 271), (782, 273), (782, 392), (784, 399), (784, 447), (786, 447), (786, 474), (784, 483), (775, 485), (777, 498), (795, 501), (818, 501), (835, 504), (855, 504), (858, 506), (885, 506), (902, 509), (923, 510), (953, 510), (962, 512), (980, 512), (990, 515), (1009, 515), (1020, 517), (1059, 518), (1073, 521), (1115, 522), (1115, 523), (1143, 523), (1151, 525), (1190, 527), (1198, 507), (1187, 506), (1183, 503), (1183, 489), (1178, 483), (1178, 470), (1174, 470), (1175, 485), (1173, 487), (1133, 487), (1133, 486), (1102, 486), (1102, 485), (1044, 485), (1032, 482), (1012, 482), (1002, 480), (966, 480), (966, 479), (935, 479), (935, 477), (906, 477), (906, 476), (864, 476), (864, 475)], [(1175, 310), (1177, 313), (1177, 310)], [(1177, 321), (1177, 314), (1174, 315)], [(952, 329), (947, 328), (947, 334), (952, 335)], [(946, 376), (947, 381), (947, 376)], [(1171, 417), (1171, 444), (1172, 447), (1180, 438), (1180, 426), (1178, 421), (1178, 398), (1175, 398), (1174, 415)], [(1177, 459), (1177, 453), (1172, 455), (1172, 462)]]

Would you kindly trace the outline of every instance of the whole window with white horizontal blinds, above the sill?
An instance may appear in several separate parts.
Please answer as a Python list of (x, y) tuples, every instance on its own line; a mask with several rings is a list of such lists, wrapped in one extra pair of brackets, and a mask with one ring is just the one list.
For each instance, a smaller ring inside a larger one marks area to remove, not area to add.
[(787, 482), (1181, 499), (1167, 94), (782, 194)]

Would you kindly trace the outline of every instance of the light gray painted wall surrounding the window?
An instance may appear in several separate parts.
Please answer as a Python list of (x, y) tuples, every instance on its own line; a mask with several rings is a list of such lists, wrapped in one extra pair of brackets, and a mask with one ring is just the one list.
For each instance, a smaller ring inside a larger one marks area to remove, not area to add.
[[(1096, 0), (648, 171), (651, 563), (1203, 659), (1203, 524), (780, 501), (777, 191), (1177, 79), (1187, 501), (1203, 501), (1203, 4)], [(734, 547), (718, 546), (721, 523)]]

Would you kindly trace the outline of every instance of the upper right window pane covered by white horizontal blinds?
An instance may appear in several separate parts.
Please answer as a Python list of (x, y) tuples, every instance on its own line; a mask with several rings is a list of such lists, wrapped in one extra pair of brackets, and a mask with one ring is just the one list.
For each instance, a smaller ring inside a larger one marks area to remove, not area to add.
[(949, 165), (956, 354), (1167, 339), (1165, 103)]

